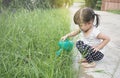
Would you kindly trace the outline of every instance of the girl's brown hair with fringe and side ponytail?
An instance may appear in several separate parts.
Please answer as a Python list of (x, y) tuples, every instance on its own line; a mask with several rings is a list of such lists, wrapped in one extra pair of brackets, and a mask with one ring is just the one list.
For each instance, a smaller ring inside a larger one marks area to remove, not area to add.
[(75, 24), (80, 25), (81, 22), (87, 23), (87, 22), (89, 22), (91, 20), (94, 21), (95, 16), (96, 16), (96, 24), (95, 24), (95, 26), (98, 27), (98, 25), (100, 23), (99, 15), (95, 14), (93, 9), (88, 8), (88, 7), (79, 9), (75, 13), (75, 15), (74, 15), (74, 22), (75, 22)]

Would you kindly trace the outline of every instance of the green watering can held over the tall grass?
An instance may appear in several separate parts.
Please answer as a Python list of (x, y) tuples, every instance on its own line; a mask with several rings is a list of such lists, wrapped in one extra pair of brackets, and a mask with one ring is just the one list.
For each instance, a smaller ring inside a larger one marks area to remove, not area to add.
[(59, 41), (58, 46), (60, 47), (60, 49), (56, 52), (57, 56), (59, 56), (63, 50), (70, 52), (73, 48), (73, 42), (66, 39), (65, 41)]

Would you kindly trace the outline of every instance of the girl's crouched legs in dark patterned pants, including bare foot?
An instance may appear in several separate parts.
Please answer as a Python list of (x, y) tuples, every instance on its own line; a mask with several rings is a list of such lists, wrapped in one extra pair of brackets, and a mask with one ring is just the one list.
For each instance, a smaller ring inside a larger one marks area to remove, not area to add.
[(95, 67), (96, 64), (95, 62), (93, 61), (98, 61), (98, 60), (101, 60), (103, 58), (103, 54), (101, 52), (94, 52), (93, 48), (87, 44), (84, 44), (83, 41), (77, 41), (76, 43), (76, 47), (78, 48), (79, 52), (84, 55), (84, 54), (87, 54), (85, 55), (85, 62), (82, 63), (82, 65), (84, 67)]

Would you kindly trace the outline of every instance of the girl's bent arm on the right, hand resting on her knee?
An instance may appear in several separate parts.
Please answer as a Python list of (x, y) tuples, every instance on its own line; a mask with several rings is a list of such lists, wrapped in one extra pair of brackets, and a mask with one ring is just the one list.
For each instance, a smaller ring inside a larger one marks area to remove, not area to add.
[(98, 46), (95, 47), (95, 50), (97, 51), (104, 48), (106, 44), (110, 41), (110, 38), (102, 33), (98, 34), (97, 38), (103, 40)]

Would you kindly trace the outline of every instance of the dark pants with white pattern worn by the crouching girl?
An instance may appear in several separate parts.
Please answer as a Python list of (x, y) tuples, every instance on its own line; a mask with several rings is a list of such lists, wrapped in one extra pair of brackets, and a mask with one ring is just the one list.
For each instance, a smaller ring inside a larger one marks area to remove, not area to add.
[(91, 46), (84, 44), (81, 40), (77, 41), (76, 47), (89, 63), (92, 61), (99, 61), (104, 57), (100, 51), (95, 52)]

